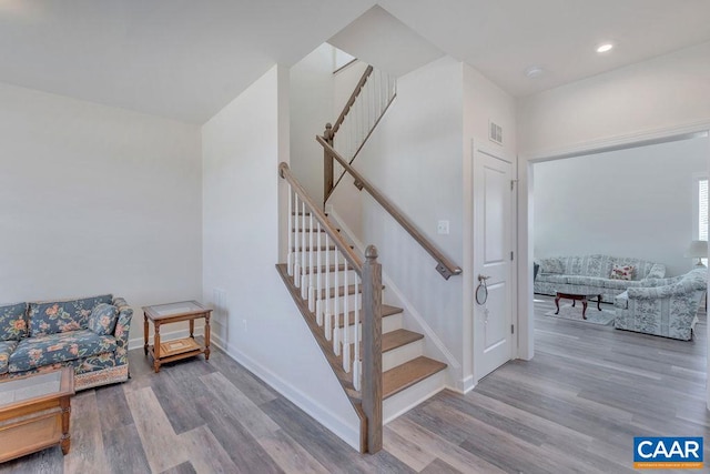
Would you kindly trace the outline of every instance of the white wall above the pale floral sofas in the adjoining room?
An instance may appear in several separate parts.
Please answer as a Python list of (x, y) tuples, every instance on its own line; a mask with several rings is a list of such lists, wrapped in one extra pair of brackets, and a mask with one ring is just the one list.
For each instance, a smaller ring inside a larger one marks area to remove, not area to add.
[[(694, 173), (708, 139), (555, 160), (535, 165), (535, 256), (602, 253), (688, 272)], [(696, 216), (697, 219), (697, 216)]]

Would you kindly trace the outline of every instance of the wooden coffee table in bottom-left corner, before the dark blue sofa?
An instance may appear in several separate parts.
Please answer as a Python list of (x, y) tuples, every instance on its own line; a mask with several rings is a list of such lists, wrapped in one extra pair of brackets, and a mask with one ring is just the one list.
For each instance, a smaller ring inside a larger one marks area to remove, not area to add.
[(0, 463), (59, 444), (69, 453), (74, 370), (0, 382)]

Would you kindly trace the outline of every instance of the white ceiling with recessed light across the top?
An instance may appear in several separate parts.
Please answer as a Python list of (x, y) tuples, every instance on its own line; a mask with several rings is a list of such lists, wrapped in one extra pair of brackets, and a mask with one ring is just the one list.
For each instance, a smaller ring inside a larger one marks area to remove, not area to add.
[[(294, 64), (375, 3), (0, 0), (0, 81), (203, 123), (274, 63)], [(399, 41), (414, 62), (449, 54), (516, 97), (710, 41), (709, 0), (377, 3), (403, 23), (387, 48)], [(382, 33), (366, 24), (351, 29), (364, 43)], [(413, 36), (426, 48), (412, 48)], [(597, 54), (606, 40), (617, 48)], [(527, 78), (530, 65), (544, 74)]]

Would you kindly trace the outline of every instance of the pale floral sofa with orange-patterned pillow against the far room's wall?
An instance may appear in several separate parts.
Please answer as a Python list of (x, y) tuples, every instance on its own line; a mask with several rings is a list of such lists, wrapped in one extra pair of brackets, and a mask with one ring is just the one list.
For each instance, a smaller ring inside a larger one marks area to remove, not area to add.
[(534, 291), (555, 295), (557, 292), (600, 294), (601, 301), (613, 299), (648, 279), (662, 279), (666, 265), (640, 259), (609, 255), (554, 256), (536, 260), (540, 265)]

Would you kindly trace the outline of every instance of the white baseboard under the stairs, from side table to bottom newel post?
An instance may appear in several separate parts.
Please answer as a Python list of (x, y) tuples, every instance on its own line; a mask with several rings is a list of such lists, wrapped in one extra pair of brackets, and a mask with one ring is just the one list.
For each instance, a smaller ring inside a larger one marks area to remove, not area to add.
[(277, 374), (264, 367), (233, 345), (224, 344), (220, 337), (213, 337), (212, 342), (234, 361), (242, 364), (246, 370), (288, 399), (294, 405), (306, 412), (323, 426), (332, 431), (336, 436), (349, 444), (355, 451), (359, 452), (359, 426), (352, 426), (337, 414), (324, 410), (316, 400), (313, 400), (311, 396), (301, 392), (298, 389), (294, 387)]

